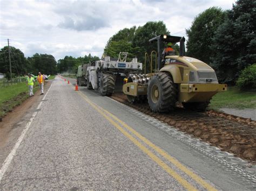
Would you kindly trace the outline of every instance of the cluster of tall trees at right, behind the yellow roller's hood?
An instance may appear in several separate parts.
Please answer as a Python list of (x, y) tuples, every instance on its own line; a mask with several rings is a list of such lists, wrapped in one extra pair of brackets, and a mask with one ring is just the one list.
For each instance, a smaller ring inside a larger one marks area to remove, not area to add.
[(231, 10), (200, 13), (186, 30), (187, 55), (213, 67), (220, 82), (235, 84), (242, 70), (256, 63), (255, 10), (256, 1), (239, 0)]

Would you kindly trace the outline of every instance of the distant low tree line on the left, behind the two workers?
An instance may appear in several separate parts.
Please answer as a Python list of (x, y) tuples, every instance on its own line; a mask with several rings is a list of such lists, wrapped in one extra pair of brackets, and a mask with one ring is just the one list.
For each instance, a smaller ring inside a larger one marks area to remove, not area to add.
[[(50, 54), (38, 54), (25, 58), (24, 53), (13, 46), (10, 46), (10, 59), (12, 77), (24, 76), (28, 73), (37, 75), (42, 74), (57, 74), (63, 72), (75, 73), (76, 68), (83, 63), (89, 63), (92, 60), (99, 60), (97, 56), (91, 54), (84, 57), (74, 58), (65, 56), (64, 59), (56, 61), (55, 57)], [(9, 64), (9, 49), (8, 46), (0, 50), (0, 73), (10, 79), (10, 64)]]

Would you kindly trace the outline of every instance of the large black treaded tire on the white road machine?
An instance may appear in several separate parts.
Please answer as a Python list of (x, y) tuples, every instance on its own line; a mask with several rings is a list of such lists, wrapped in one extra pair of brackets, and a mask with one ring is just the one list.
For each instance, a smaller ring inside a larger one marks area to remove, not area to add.
[(111, 96), (114, 93), (114, 76), (101, 74), (99, 82), (99, 93), (104, 96)]

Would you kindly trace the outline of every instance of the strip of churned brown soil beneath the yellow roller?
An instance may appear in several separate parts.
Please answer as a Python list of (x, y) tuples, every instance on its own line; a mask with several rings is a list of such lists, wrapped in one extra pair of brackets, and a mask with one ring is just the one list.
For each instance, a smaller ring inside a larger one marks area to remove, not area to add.
[(111, 98), (256, 164), (256, 122), (251, 119), (217, 111), (189, 111), (180, 107), (170, 114), (156, 114), (147, 103), (132, 104), (123, 94), (114, 94)]

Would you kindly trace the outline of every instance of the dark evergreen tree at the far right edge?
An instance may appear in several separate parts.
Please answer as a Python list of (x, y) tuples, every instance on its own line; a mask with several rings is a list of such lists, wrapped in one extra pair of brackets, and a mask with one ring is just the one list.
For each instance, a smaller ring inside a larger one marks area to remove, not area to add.
[(255, 1), (237, 1), (215, 33), (212, 66), (221, 82), (235, 84), (241, 70), (256, 63), (255, 9)]

